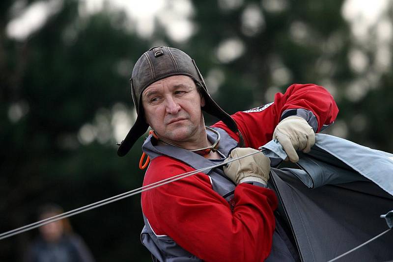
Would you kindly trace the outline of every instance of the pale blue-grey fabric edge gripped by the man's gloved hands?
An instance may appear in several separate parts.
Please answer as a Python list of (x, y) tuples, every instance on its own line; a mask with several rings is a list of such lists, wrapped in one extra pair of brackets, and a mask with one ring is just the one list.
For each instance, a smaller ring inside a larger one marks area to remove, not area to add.
[[(323, 184), (347, 183), (358, 180), (371, 180), (389, 194), (393, 195), (393, 155), (370, 149), (351, 141), (327, 134), (316, 134), (316, 143), (311, 152), (299, 154), (299, 166), (305, 172), (294, 174), (309, 187)], [(286, 153), (277, 140), (263, 147), (263, 153), (274, 159), (285, 159)], [(329, 165), (332, 165), (329, 167)], [(335, 175), (335, 169), (340, 172)], [(355, 170), (363, 177), (351, 174)]]

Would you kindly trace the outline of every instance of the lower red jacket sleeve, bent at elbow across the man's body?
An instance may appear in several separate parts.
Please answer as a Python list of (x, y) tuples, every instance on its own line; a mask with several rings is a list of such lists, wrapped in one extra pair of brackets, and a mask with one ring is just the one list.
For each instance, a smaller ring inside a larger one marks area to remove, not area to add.
[[(162, 173), (192, 170), (168, 157), (157, 157), (144, 183), (165, 179)], [(203, 261), (264, 261), (270, 254), (277, 207), (270, 189), (247, 183), (236, 186), (232, 210), (212, 189), (209, 177), (199, 173), (143, 192), (141, 203), (156, 235), (171, 237)]]

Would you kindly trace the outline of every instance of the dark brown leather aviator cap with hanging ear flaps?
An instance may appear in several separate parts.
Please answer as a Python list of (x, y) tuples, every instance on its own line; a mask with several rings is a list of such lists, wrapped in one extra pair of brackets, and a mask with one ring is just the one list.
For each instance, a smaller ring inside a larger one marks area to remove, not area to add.
[(205, 106), (202, 107), (202, 110), (222, 120), (230, 130), (238, 132), (235, 121), (210, 97), (195, 61), (181, 50), (170, 47), (153, 47), (142, 54), (132, 71), (131, 94), (138, 117), (134, 126), (120, 143), (117, 150), (118, 156), (125, 156), (138, 138), (149, 128), (144, 118), (143, 106), (141, 106), (142, 92), (155, 81), (175, 75), (189, 76), (196, 84), (202, 86), (200, 92), (205, 98)]

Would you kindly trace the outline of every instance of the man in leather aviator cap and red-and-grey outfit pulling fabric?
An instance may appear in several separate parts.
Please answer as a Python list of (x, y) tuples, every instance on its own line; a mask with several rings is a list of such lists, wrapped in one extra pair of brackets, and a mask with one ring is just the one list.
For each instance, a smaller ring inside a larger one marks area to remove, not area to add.
[[(154, 130), (142, 146), (151, 159), (144, 185), (245, 156), (273, 138), (296, 162), (296, 150), (309, 151), (314, 132), (338, 112), (324, 88), (294, 84), (271, 104), (229, 116), (211, 99), (195, 61), (168, 47), (140, 57), (131, 90), (138, 118), (118, 155)], [(202, 110), (221, 121), (205, 127)], [(298, 260), (275, 219), (269, 170), (269, 158), (258, 153), (143, 192), (142, 243), (156, 261)]]

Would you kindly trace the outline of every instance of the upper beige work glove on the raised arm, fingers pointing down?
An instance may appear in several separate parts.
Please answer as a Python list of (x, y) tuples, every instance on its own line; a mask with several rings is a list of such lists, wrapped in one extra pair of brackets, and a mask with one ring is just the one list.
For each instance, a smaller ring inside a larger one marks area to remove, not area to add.
[(277, 139), (291, 162), (299, 161), (296, 150), (305, 153), (315, 144), (315, 133), (312, 127), (301, 117), (289, 116), (281, 120), (273, 133), (273, 139)]

